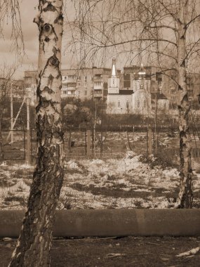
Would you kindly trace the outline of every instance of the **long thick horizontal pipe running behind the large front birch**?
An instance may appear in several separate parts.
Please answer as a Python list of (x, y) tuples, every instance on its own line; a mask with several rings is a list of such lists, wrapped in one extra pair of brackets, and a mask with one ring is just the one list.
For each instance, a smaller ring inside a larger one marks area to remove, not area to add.
[[(18, 237), (24, 211), (0, 211), (0, 236)], [(54, 236), (197, 236), (200, 209), (56, 211)]]

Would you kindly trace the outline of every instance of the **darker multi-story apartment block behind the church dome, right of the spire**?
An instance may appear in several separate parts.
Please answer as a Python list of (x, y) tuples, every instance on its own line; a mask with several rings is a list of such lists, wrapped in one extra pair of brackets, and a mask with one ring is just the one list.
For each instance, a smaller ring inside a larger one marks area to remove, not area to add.
[[(150, 93), (159, 93), (164, 95), (169, 103), (169, 108), (174, 108), (177, 104), (177, 70), (161, 70), (159, 67), (145, 66), (142, 67), (144, 71), (144, 79), (140, 79), (141, 74), (140, 66), (124, 67), (124, 89), (131, 89), (133, 92), (137, 91), (141, 82), (144, 89)], [(200, 93), (200, 74), (188, 73), (187, 74), (187, 91), (189, 100), (197, 102)]]

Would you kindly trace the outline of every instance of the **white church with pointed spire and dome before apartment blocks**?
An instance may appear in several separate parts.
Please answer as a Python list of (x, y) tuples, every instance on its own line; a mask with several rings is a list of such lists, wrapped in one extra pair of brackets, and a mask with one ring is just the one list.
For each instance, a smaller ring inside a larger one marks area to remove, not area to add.
[(151, 115), (157, 108), (168, 110), (168, 99), (161, 93), (161, 83), (157, 92), (151, 93), (151, 79), (147, 77), (144, 67), (135, 72), (131, 86), (120, 89), (120, 80), (116, 75), (116, 60), (112, 60), (112, 75), (108, 79), (107, 113)]

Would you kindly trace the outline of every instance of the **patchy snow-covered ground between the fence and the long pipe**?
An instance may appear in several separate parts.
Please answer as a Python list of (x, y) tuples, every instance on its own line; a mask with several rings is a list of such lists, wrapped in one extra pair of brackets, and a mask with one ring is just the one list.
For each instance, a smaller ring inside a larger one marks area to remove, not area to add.
[[(178, 170), (151, 166), (132, 152), (123, 159), (69, 160), (58, 209), (171, 207), (178, 195)], [(1, 166), (1, 209), (26, 207), (32, 171), (27, 165)], [(195, 172), (193, 187), (194, 207), (200, 207), (200, 174)]]

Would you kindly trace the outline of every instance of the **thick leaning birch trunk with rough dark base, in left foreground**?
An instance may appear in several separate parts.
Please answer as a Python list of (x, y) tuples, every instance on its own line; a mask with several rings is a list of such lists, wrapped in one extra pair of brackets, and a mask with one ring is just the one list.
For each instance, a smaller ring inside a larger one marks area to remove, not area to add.
[(9, 266), (50, 266), (55, 208), (63, 179), (60, 116), (62, 0), (39, 0), (38, 157), (20, 237)]

